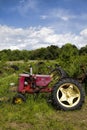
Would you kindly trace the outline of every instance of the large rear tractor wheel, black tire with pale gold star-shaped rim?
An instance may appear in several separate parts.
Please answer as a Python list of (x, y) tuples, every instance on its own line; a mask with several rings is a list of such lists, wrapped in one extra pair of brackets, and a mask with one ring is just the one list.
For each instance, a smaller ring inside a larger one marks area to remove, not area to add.
[(52, 104), (56, 109), (80, 109), (85, 100), (85, 91), (81, 84), (72, 78), (64, 78), (56, 83), (52, 91)]

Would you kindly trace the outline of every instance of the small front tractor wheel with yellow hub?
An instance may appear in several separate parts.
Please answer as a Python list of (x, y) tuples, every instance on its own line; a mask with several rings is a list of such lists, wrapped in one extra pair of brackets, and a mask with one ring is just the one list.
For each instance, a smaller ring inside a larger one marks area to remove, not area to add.
[(26, 102), (26, 97), (23, 94), (19, 93), (13, 97), (13, 104), (22, 104), (23, 102)]

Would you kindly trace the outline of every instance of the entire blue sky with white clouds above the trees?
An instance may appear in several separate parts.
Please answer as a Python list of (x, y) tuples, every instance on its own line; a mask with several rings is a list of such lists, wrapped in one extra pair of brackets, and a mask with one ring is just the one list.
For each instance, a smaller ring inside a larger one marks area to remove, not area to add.
[(87, 0), (0, 0), (0, 50), (87, 45)]

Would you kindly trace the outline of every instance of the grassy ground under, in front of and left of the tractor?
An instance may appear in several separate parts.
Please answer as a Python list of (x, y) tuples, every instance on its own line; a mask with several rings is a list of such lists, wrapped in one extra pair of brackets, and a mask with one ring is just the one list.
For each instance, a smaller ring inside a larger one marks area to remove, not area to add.
[(20, 71), (7, 69), (0, 75), (0, 97), (10, 98), (0, 102), (0, 130), (87, 130), (87, 97), (81, 110), (67, 112), (47, 103), (47, 94), (40, 94), (36, 100), (28, 95), (26, 103), (13, 105), (15, 93), (9, 92), (9, 84), (17, 85)]

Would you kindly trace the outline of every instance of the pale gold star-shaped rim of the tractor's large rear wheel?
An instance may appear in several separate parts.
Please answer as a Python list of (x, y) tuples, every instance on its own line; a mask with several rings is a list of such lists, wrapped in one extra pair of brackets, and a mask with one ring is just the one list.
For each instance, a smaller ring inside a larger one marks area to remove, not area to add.
[(79, 103), (80, 91), (74, 84), (63, 84), (57, 90), (57, 100), (64, 107), (74, 107)]

